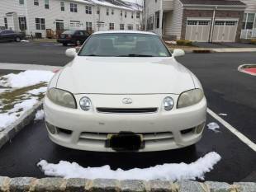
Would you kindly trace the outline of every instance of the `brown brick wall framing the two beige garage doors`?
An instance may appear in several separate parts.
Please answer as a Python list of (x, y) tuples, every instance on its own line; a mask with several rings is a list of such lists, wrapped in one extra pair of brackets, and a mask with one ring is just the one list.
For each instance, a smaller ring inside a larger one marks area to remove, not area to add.
[[(182, 35), (181, 39), (185, 39), (186, 35), (186, 26), (187, 26), (187, 17), (208, 17), (212, 18), (213, 10), (189, 10), (184, 9), (183, 11), (183, 24), (182, 24)], [(217, 10), (216, 11), (216, 18), (239, 18), (237, 32), (235, 41), (239, 41), (241, 35), (241, 29), (243, 24), (243, 16), (244, 11), (227, 11), (227, 10)]]

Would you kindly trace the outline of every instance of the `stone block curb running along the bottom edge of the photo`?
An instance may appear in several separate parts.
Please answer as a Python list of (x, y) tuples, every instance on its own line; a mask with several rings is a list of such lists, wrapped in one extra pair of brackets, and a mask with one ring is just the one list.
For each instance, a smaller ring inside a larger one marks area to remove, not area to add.
[(220, 182), (206, 181), (204, 183), (182, 180), (176, 183), (162, 180), (87, 180), (32, 177), (9, 178), (0, 176), (0, 191), (69, 191), (69, 192), (99, 192), (99, 191), (131, 191), (131, 192), (255, 192), (256, 183), (234, 183), (233, 185)]

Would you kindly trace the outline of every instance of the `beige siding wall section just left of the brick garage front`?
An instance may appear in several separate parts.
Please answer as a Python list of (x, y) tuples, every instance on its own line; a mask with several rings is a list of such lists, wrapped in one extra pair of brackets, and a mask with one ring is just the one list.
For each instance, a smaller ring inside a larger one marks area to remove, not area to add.
[(175, 0), (173, 11), (166, 13), (164, 19), (164, 35), (170, 35), (173, 40), (180, 40), (182, 31), (183, 4)]

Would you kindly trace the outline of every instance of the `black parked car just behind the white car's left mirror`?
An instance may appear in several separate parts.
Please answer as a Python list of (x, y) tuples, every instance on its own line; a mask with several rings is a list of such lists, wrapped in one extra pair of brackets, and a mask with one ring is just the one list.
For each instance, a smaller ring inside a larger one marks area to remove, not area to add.
[(64, 46), (67, 44), (81, 45), (89, 36), (90, 34), (86, 30), (66, 30), (59, 35), (57, 42)]

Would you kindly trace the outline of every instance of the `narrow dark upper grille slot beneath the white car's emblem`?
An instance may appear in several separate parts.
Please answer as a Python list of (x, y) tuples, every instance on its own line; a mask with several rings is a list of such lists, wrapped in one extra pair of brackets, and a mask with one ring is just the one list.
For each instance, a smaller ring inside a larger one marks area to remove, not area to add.
[(158, 108), (105, 108), (98, 107), (99, 113), (113, 113), (113, 114), (143, 114), (143, 113), (155, 113)]

